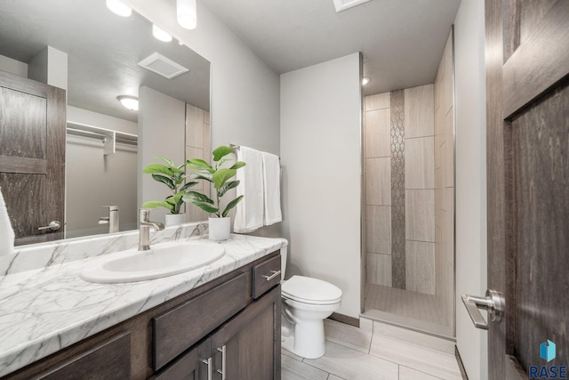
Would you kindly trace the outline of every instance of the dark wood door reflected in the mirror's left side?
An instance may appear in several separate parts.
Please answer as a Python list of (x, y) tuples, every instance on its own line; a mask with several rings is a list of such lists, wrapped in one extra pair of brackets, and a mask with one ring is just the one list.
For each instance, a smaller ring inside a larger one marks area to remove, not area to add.
[[(65, 91), (0, 71), (0, 188), (16, 245), (61, 239)], [(60, 230), (38, 230), (50, 222)]]

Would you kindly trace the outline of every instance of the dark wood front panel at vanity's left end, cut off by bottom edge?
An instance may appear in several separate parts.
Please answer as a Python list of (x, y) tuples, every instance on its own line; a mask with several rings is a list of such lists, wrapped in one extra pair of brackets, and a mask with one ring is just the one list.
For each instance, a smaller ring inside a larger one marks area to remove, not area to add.
[(112, 337), (37, 378), (45, 380), (131, 378), (131, 334)]

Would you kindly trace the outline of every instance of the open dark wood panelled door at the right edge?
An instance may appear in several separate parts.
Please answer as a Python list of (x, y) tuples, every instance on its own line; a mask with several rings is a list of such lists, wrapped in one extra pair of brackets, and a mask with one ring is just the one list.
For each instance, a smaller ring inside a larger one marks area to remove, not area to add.
[(488, 287), (506, 301), (489, 378), (566, 378), (569, 1), (485, 6)]

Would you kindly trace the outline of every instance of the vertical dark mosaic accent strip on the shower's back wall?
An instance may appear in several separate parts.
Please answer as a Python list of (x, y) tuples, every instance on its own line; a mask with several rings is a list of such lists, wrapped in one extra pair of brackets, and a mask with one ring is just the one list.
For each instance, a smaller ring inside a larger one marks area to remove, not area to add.
[(391, 92), (391, 279), (405, 289), (405, 93)]

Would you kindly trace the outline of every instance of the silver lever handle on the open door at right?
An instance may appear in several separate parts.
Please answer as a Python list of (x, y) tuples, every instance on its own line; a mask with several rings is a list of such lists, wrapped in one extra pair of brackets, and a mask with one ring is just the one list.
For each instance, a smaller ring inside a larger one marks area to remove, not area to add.
[(478, 297), (475, 295), (462, 295), (462, 303), (469, 311), (470, 319), (477, 328), (483, 330), (488, 329), (488, 323), (485, 321), (480, 309), (488, 311), (488, 319), (492, 322), (500, 323), (501, 317), (506, 310), (506, 300), (504, 296), (495, 290), (486, 290), (485, 297)]

